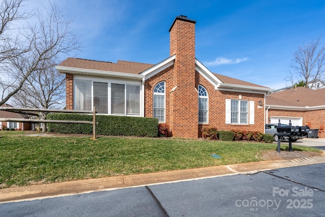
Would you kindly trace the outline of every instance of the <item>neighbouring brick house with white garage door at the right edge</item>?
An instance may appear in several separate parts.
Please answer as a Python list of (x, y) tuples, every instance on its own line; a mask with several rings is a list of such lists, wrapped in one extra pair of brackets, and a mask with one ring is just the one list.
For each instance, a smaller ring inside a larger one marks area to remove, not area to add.
[(297, 87), (274, 92), (266, 96), (266, 116), (269, 123), (288, 123), (308, 125), (320, 129), (319, 138), (325, 138), (325, 88), (309, 89)]

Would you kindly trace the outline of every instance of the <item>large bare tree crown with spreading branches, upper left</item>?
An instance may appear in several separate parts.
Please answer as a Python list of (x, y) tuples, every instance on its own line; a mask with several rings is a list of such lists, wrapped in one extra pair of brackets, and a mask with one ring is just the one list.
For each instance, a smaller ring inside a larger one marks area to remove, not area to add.
[[(34, 72), (33, 76), (37, 76), (51, 71), (62, 55), (80, 47), (76, 35), (71, 32), (70, 20), (55, 4), (51, 4), (45, 14), (39, 10), (19, 13), (23, 2), (3, 0), (0, 6), (0, 105), (14, 96)], [(15, 21), (30, 17), (37, 18), (35, 24), (10, 28)], [(32, 80), (29, 79), (25, 88), (30, 87)], [(39, 84), (36, 82), (36, 86)]]

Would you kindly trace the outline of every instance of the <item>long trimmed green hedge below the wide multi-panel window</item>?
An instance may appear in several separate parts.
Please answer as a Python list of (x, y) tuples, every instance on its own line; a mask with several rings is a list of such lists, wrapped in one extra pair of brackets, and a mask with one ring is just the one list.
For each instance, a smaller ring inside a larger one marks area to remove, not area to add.
[[(92, 121), (92, 115), (51, 113), (47, 119)], [(96, 135), (157, 137), (158, 119), (96, 115)], [(92, 134), (92, 125), (84, 123), (48, 123), (48, 131), (53, 133)]]

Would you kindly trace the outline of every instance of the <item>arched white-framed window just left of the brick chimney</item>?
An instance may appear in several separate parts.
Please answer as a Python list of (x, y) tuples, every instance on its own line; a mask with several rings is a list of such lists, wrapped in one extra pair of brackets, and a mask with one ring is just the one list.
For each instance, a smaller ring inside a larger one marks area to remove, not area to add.
[(153, 89), (153, 117), (165, 122), (165, 81), (157, 83)]

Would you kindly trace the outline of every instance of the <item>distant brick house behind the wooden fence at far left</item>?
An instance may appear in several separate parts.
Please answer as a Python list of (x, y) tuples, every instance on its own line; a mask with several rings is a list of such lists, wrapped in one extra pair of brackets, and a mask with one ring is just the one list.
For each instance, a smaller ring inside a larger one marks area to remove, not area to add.
[[(6, 103), (1, 105), (1, 107), (12, 107), (12, 106)], [(27, 118), (28, 119), (28, 116), (15, 113), (15, 112), (0, 110), (0, 118)], [(15, 130), (31, 130), (31, 123), (0, 121), (0, 128), (15, 129)]]

